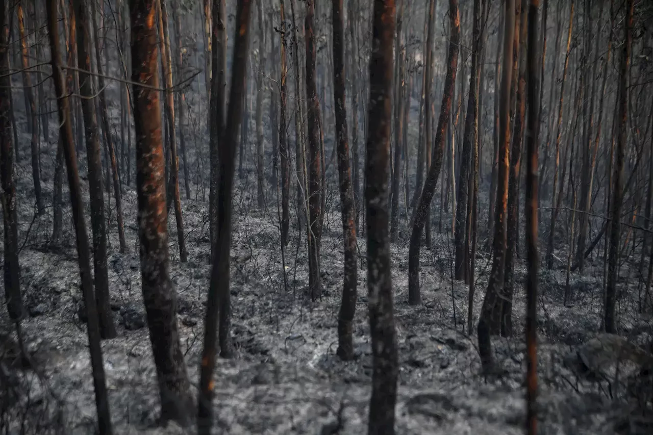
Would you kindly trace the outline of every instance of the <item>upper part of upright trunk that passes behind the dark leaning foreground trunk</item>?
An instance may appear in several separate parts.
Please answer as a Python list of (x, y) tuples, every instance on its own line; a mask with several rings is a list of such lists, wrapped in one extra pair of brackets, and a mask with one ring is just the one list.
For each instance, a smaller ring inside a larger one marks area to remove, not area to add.
[[(227, 86), (227, 28), (225, 1), (213, 0), (212, 29), (212, 68), (211, 73), (211, 125), (210, 134), (210, 191), (209, 191), (209, 232), (211, 239), (211, 261), (215, 258), (215, 238), (217, 236), (217, 185), (219, 184), (219, 149), (225, 129), (225, 86)], [(244, 104), (244, 103), (243, 103)], [(213, 264), (213, 263), (212, 263)]]

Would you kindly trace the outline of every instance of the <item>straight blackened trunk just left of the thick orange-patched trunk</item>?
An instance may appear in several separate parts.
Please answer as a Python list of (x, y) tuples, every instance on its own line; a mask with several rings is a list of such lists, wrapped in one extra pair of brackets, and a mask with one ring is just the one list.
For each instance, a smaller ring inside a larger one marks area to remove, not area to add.
[[(91, 40), (93, 31), (89, 25), (88, 9), (84, 0), (72, 0), (78, 24), (77, 62), (80, 70), (91, 71)], [(82, 113), (86, 130), (86, 161), (88, 164), (88, 189), (91, 198), (91, 229), (93, 230), (93, 280), (95, 299), (100, 321), (102, 338), (114, 338), (116, 327), (109, 304), (109, 277), (106, 269), (106, 221), (104, 219), (104, 191), (102, 184), (102, 161), (100, 152), (100, 133), (95, 114), (95, 101), (91, 88), (91, 76), (80, 71), (80, 93), (82, 94)]]

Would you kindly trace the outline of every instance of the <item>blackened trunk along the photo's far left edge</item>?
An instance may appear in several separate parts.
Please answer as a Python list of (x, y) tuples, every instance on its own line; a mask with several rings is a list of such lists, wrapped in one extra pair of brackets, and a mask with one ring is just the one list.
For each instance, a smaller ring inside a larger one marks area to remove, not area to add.
[[(20, 5), (18, 5), (20, 8)], [(10, 10), (10, 9), (9, 9)], [(3, 226), (5, 229), (4, 280), (5, 300), (9, 318), (23, 318), (20, 295), (20, 265), (18, 263), (18, 217), (16, 214), (16, 184), (14, 183), (14, 144), (11, 128), (11, 76), (9, 72), (9, 23), (6, 1), (0, 1), (0, 180), (2, 182)], [(20, 13), (20, 12), (19, 12)]]

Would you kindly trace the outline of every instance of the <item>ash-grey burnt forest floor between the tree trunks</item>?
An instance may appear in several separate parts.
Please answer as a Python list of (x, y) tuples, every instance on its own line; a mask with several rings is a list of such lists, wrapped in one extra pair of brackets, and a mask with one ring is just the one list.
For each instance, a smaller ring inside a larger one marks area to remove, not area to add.
[[(17, 172), (22, 173), (18, 178), (20, 197), (27, 199), (33, 194), (29, 172)], [(338, 212), (325, 217), (321, 250), (324, 293), (321, 300), (311, 303), (306, 297), (308, 261), (297, 249), (296, 224), (291, 225), (291, 244), (285, 251), (285, 287), (276, 207), (251, 208), (255, 198), (247, 187), (251, 183), (237, 180), (236, 184), (231, 294), (232, 334), (238, 351), (234, 359), (217, 361), (214, 404), (221, 430), (216, 433), (365, 433), (372, 360), (364, 237), (358, 240), (354, 327), (358, 359), (341, 362), (335, 355), (343, 268)], [(45, 178), (46, 195), (51, 195), (51, 185), (51, 179)], [(332, 198), (336, 192), (330, 195)], [(88, 207), (88, 201), (86, 204)], [(193, 428), (184, 430), (174, 423), (166, 428), (156, 426), (158, 393), (140, 292), (135, 189), (123, 187), (123, 204), (129, 253), (118, 253), (115, 212), (108, 229), (110, 293), (118, 338), (102, 345), (114, 430), (116, 434), (193, 433)], [(327, 205), (338, 210), (336, 202)], [(80, 280), (70, 211), (65, 210), (65, 242), (58, 245), (48, 243), (50, 208), (45, 216), (33, 219), (30, 201), (19, 201), (19, 214), (21, 284), (29, 314), (23, 327), (37, 370), (11, 371), (10, 379), (20, 394), (14, 406), (5, 408), (0, 427), (9, 419), (14, 427), (8, 432), (11, 434), (19, 433), (16, 425), (20, 424), (38, 433), (92, 433), (93, 383), (88, 339), (79, 316)], [(193, 389), (199, 379), (210, 274), (207, 216), (207, 203), (201, 197), (183, 201), (187, 263), (179, 261), (174, 214), (169, 218), (170, 276), (178, 292), (178, 325)], [(400, 357), (396, 433), (521, 434), (525, 415), (523, 261), (518, 261), (515, 270), (515, 336), (493, 339), (496, 359), (505, 372), (486, 379), (480, 373), (475, 336), (469, 336), (464, 327), (468, 287), (451, 279), (451, 236), (434, 231), (432, 249), (422, 248), (421, 306), (407, 304), (407, 244), (407, 235), (401, 233), (398, 243), (391, 246)], [(479, 244), (484, 244), (483, 237)], [(632, 410), (627, 400), (611, 400), (597, 385), (577, 382), (560, 364), (561, 355), (600, 330), (602, 265), (599, 257), (590, 261), (583, 276), (572, 274), (567, 307), (562, 305), (564, 265), (541, 272), (538, 409), (542, 434), (637, 433), (617, 430), (629, 427), (624, 423)], [(624, 264), (622, 275), (633, 276), (636, 266)], [(479, 250), (475, 316), (489, 271), (490, 255)], [(647, 338), (650, 321), (631, 315), (637, 312), (632, 296), (637, 293), (635, 280), (622, 281), (633, 289), (624, 292), (619, 307), (624, 334), (641, 342)], [(12, 340), (15, 335), (3, 308), (0, 354)]]

